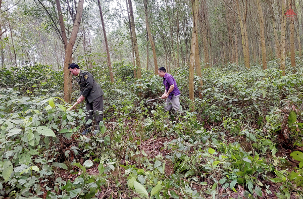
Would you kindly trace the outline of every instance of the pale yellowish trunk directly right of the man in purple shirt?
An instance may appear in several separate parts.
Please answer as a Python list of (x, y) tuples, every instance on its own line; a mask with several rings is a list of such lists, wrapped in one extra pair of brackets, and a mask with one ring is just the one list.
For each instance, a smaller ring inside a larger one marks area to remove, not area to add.
[[(189, 98), (194, 103), (194, 85), (193, 85), (193, 68), (195, 63), (195, 51), (196, 51), (196, 41), (197, 41), (197, 32), (196, 32), (196, 25), (197, 25), (197, 17), (198, 17), (198, 0), (191, 0), (192, 5), (192, 18), (193, 18), (193, 25), (192, 25), (192, 35), (191, 35), (191, 49), (190, 49), (190, 56), (189, 56)], [(192, 106), (192, 111), (194, 110), (194, 105)]]

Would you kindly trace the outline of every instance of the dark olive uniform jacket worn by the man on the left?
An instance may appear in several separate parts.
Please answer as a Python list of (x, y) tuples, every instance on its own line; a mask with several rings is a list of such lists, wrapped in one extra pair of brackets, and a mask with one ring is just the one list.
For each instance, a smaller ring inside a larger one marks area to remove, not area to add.
[(94, 81), (89, 72), (80, 70), (76, 80), (80, 86), (79, 96), (83, 95), (88, 103), (92, 103), (96, 98), (104, 94), (99, 84)]

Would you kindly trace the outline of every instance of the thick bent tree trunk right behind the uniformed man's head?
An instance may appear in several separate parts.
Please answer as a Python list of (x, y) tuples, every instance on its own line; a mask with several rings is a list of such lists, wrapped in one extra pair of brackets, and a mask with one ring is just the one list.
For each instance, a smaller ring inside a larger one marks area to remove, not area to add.
[(75, 23), (73, 25), (73, 30), (71, 37), (68, 41), (68, 44), (65, 49), (65, 56), (64, 56), (64, 101), (70, 103), (71, 102), (71, 92), (72, 92), (72, 78), (71, 74), (68, 70), (69, 63), (72, 62), (73, 57), (73, 47), (75, 44), (75, 41), (77, 39), (77, 34), (80, 27), (80, 21), (82, 18), (82, 11), (83, 11), (83, 3), (84, 0), (79, 0), (78, 8), (77, 8), (77, 14), (75, 18)]

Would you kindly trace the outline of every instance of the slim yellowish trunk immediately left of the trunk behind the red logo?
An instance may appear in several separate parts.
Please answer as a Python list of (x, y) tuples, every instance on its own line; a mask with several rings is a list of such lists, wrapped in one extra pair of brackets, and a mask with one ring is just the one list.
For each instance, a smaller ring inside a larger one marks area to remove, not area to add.
[(285, 50), (285, 33), (286, 33), (286, 0), (282, 0), (282, 12), (281, 12), (281, 62), (280, 69), (283, 71), (282, 75), (285, 76), (285, 59), (286, 59), (286, 50)]

